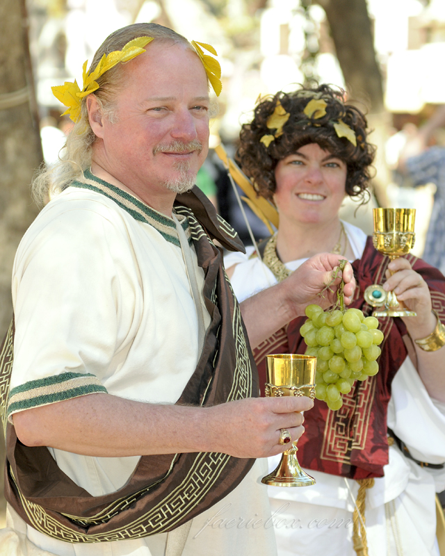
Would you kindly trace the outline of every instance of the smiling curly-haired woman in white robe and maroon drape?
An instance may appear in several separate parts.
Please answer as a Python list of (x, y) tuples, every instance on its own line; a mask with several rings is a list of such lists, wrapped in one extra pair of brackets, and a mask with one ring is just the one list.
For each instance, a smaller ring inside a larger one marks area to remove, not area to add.
[[(298, 459), (316, 485), (268, 487), (280, 556), (366, 554), (366, 545), (369, 556), (439, 554), (435, 491), (445, 489), (445, 350), (439, 349), (445, 332), (436, 315), (445, 320), (445, 279), (414, 256), (389, 263), (371, 238), (339, 219), (346, 195), (368, 194), (374, 149), (366, 136), (364, 115), (327, 85), (260, 101), (241, 131), (236, 159), (259, 195), (277, 207), (280, 228), (259, 245), (261, 259), (253, 248), (227, 257), (238, 300), (326, 251), (355, 261), (352, 306), (370, 315), (366, 288), (383, 284), (417, 313), (380, 319), (380, 371), (355, 382), (341, 409), (316, 400), (305, 414)], [(260, 383), (266, 382), (266, 354), (305, 352), (303, 322), (291, 322), (255, 350)], [(422, 338), (423, 345), (416, 343)], [(409, 451), (401, 451), (402, 442)], [(270, 468), (276, 464), (270, 461)], [(365, 498), (364, 516), (354, 515)]]

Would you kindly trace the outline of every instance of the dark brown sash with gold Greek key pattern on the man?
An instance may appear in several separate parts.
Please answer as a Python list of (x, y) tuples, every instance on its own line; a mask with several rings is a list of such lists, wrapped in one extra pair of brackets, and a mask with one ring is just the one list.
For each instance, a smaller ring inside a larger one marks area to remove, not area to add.
[[(248, 336), (225, 275), (216, 238), (229, 250), (243, 250), (236, 232), (194, 188), (178, 195), (176, 211), (187, 216), (197, 260), (204, 269), (204, 300), (211, 316), (197, 368), (178, 404), (211, 406), (256, 397), (257, 371)], [(13, 360), (13, 325), (0, 351), (1, 417), (6, 425), (6, 499), (36, 530), (63, 541), (104, 542), (168, 532), (227, 496), (248, 473), (253, 459), (220, 453), (141, 457), (119, 491), (93, 497), (60, 471), (49, 450), (20, 443), (6, 424)], [(221, 424), (223, 427), (223, 423)]]

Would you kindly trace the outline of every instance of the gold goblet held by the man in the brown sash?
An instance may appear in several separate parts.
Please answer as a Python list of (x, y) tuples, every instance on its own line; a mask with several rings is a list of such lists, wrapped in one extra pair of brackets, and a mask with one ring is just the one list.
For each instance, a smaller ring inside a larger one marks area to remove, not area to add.
[[(276, 354), (267, 356), (266, 396), (307, 395), (315, 398), (317, 358), (309, 355)], [(302, 470), (297, 459), (297, 446), (283, 452), (275, 471), (261, 479), (273, 486), (309, 486), (314, 477)]]

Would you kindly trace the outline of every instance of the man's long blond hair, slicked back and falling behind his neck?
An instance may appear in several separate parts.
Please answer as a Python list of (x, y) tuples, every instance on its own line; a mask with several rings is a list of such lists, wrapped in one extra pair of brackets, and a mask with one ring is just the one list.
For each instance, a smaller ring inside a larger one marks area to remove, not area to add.
[[(97, 49), (94, 58), (92, 58), (90, 68), (94, 69), (104, 54), (109, 54), (115, 50), (122, 50), (130, 40), (145, 36), (173, 43), (187, 44), (193, 50), (193, 47), (185, 37), (168, 27), (163, 27), (156, 23), (138, 23), (111, 33)], [(115, 67), (97, 79), (99, 89), (92, 93), (99, 101), (103, 115), (108, 117), (111, 122), (113, 122), (114, 117), (113, 102), (124, 84), (122, 76), (122, 64), (115, 65)], [(60, 154), (59, 160), (49, 166), (44, 165), (33, 177), (32, 193), (35, 202), (39, 205), (44, 204), (51, 197), (60, 193), (74, 179), (79, 178), (83, 170), (86, 170), (91, 165), (92, 145), (96, 140), (96, 136), (88, 121), (87, 98), (84, 97), (82, 99), (81, 117), (67, 136), (65, 149)]]

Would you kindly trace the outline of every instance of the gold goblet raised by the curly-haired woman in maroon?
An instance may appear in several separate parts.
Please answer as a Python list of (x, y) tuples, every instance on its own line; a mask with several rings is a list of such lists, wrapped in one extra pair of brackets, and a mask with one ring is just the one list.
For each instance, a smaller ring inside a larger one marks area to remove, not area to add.
[[(415, 208), (374, 208), (373, 245), (391, 261), (406, 255), (414, 247)], [(415, 317), (416, 313), (398, 301), (394, 291), (387, 293), (385, 309), (373, 312), (375, 317)]]

